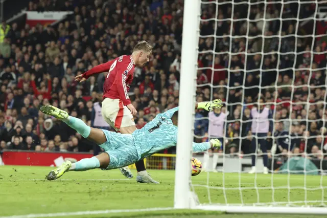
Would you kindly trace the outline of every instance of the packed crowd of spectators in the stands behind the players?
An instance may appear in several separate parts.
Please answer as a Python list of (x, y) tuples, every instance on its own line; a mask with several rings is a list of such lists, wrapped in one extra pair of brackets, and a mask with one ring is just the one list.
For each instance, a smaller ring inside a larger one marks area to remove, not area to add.
[[(27, 25), (17, 29), (14, 23), (0, 45), (0, 150), (91, 151), (91, 142), (38, 108), (52, 104), (93, 125), (93, 106), (102, 100), (106, 73), (84, 83), (75, 82), (74, 77), (131, 54), (138, 40), (148, 41), (154, 49), (150, 63), (136, 68), (129, 93), (138, 111), (136, 127), (142, 128), (156, 114), (178, 106), (183, 1), (96, 0), (75, 5), (65, 1), (59, 8), (54, 2), (31, 2), (29, 10), (72, 10), (73, 16), (55, 28)], [(285, 156), (288, 152), (303, 156), (315, 153), (318, 155), (314, 157), (323, 158), (322, 152), (327, 150), (322, 120), (326, 115), (325, 53), (313, 54), (310, 39), (294, 37), (299, 34), (296, 19), (281, 23), (281, 5), (269, 4), (264, 10), (260, 4), (240, 4), (232, 13), (231, 4), (226, 3), (219, 6), (217, 21), (210, 19), (216, 15), (210, 5), (202, 5), (197, 101), (227, 100), (222, 108), (228, 112), (225, 151), (251, 152), (255, 139), (247, 121), (260, 95), (274, 118), (268, 150), (276, 143)], [(244, 7), (250, 7), (249, 23), (227, 19), (247, 18)], [(297, 9), (296, 4), (286, 4), (283, 18), (296, 17)], [(314, 8), (303, 4), (299, 15), (308, 17), (312, 12)], [(264, 23), (264, 16), (276, 19)], [(2, 23), (1, 28), (6, 25)], [(283, 36), (281, 40), (278, 33)], [(314, 46), (316, 52), (327, 49), (323, 38)], [(196, 111), (195, 140), (207, 140), (207, 116), (205, 111)]]

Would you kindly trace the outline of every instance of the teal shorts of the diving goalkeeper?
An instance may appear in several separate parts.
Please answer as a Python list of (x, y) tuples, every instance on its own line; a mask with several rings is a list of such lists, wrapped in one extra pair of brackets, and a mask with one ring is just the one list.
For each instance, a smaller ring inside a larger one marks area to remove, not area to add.
[(107, 141), (101, 145), (110, 157), (107, 169), (118, 169), (131, 165), (139, 160), (132, 135), (110, 132), (102, 129)]

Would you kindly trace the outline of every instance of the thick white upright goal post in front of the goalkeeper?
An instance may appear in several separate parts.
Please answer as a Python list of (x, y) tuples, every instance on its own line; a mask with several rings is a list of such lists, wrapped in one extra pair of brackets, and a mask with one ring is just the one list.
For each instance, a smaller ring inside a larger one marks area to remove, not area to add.
[(174, 192), (174, 207), (176, 209), (190, 208), (192, 204), (190, 191), (191, 151), (194, 126), (199, 17), (200, 1), (185, 0)]

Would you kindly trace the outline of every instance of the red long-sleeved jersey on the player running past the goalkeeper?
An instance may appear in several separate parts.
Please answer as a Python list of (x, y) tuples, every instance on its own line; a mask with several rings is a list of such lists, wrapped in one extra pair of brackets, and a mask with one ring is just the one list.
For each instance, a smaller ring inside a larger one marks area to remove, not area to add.
[(92, 74), (108, 71), (103, 85), (103, 98), (120, 99), (124, 105), (128, 105), (131, 103), (128, 91), (133, 80), (134, 69), (135, 63), (132, 57), (122, 55), (100, 64), (82, 75), (87, 79)]

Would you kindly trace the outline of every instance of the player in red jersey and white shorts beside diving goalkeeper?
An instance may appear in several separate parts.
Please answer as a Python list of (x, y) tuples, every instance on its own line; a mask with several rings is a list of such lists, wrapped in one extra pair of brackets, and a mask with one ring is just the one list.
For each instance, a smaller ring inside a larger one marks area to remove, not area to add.
[[(130, 84), (133, 80), (134, 68), (144, 67), (149, 62), (152, 46), (146, 41), (139, 41), (131, 55), (122, 55), (114, 60), (100, 64), (91, 70), (75, 77), (75, 81), (83, 82), (92, 74), (108, 72), (103, 86), (102, 116), (117, 132), (132, 134), (136, 127), (133, 116), (137, 114), (128, 96)], [(144, 160), (135, 163), (137, 182), (158, 183), (146, 171)], [(128, 167), (120, 169), (127, 178), (133, 175)]]

